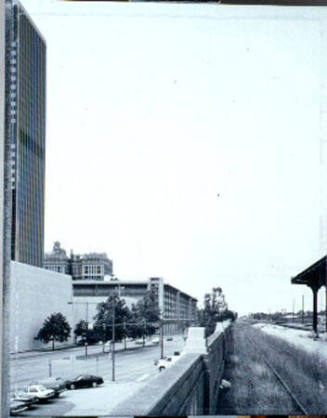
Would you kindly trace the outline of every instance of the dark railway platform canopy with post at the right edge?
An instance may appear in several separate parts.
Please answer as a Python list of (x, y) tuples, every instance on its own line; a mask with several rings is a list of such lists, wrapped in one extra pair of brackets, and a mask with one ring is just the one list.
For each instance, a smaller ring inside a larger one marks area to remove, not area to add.
[[(326, 287), (327, 292), (327, 255), (303, 270), (297, 276), (291, 278), (292, 284), (304, 284), (313, 292), (313, 330), (318, 333), (318, 290)], [(327, 293), (326, 293), (327, 302)], [(327, 312), (326, 312), (327, 314)], [(326, 318), (327, 319), (327, 318)], [(327, 326), (327, 321), (326, 321)]]

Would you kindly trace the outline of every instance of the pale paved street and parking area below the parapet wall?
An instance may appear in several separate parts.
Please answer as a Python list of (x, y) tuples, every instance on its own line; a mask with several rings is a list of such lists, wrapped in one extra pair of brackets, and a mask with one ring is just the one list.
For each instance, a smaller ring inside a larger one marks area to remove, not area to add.
[[(144, 348), (135, 344), (129, 346), (131, 349), (116, 353), (115, 382), (111, 380), (111, 354), (103, 354), (101, 347), (89, 347), (88, 359), (84, 357), (84, 348), (41, 353), (39, 356), (18, 355), (17, 360), (12, 359), (11, 362), (13, 386), (22, 387), (32, 380), (47, 377), (50, 359), (53, 376), (69, 378), (80, 373), (92, 373), (99, 374), (105, 381), (98, 388), (66, 391), (59, 399), (37, 405), (26, 411), (24, 416), (110, 414), (110, 410), (118, 403), (159, 375), (154, 366), (154, 361), (160, 357), (159, 345), (148, 342)], [(175, 350), (181, 351), (183, 346), (184, 340), (181, 336), (175, 336), (173, 341), (166, 341), (165, 338), (166, 355), (173, 354)], [(118, 344), (119, 348), (122, 348), (121, 344)]]

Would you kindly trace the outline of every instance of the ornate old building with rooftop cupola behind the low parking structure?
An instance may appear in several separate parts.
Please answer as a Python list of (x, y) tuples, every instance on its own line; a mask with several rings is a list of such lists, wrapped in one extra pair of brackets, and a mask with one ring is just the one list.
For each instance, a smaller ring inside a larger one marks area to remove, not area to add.
[(106, 253), (74, 254), (56, 241), (51, 253), (44, 254), (44, 268), (57, 273), (69, 274), (73, 280), (105, 280), (113, 276), (113, 262)]

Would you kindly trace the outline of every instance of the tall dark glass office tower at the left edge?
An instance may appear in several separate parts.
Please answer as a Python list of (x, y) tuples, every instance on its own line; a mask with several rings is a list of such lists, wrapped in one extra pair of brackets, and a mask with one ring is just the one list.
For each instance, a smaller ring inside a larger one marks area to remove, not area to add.
[(43, 266), (46, 46), (16, 0), (6, 2), (11, 258)]

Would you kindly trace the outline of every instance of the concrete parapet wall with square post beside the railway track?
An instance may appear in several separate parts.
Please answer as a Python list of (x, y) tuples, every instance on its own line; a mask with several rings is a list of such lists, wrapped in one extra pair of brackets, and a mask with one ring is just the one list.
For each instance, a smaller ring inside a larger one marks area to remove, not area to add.
[(214, 415), (232, 325), (222, 324), (207, 341), (204, 328), (190, 328), (181, 358), (118, 405), (114, 416)]

